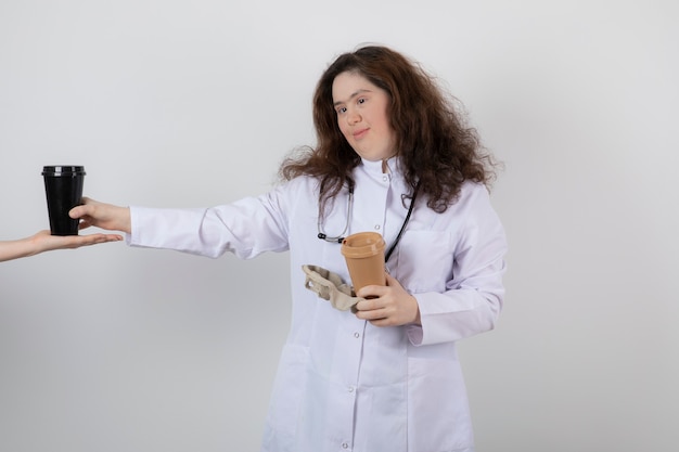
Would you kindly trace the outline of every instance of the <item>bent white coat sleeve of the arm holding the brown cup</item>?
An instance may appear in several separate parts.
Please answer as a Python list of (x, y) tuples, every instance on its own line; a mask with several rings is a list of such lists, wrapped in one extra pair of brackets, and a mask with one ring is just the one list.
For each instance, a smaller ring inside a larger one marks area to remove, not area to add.
[(461, 199), (463, 222), (454, 244), (452, 279), (443, 293), (413, 294), (420, 306), (421, 325), (410, 325), (415, 345), (454, 341), (492, 330), (502, 309), (507, 240), (504, 229), (485, 189)]

